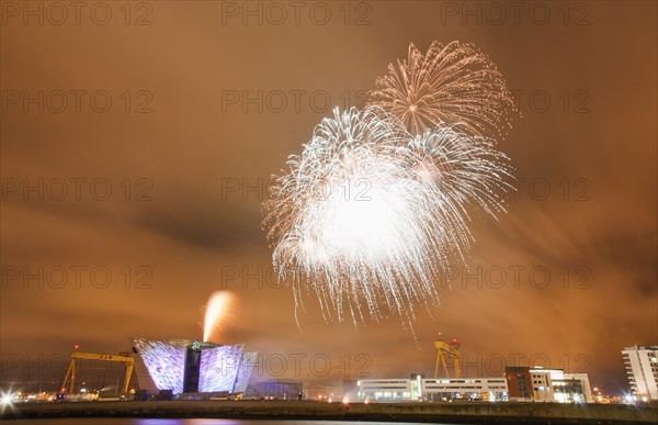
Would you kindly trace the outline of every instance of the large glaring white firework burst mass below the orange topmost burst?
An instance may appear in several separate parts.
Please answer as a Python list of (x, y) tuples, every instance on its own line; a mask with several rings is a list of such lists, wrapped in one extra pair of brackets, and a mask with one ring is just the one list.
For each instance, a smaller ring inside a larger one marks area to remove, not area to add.
[(296, 309), (315, 293), (326, 320), (390, 312), (411, 325), (416, 303), (438, 300), (440, 266), (468, 250), (467, 211), (494, 214), (507, 188), (507, 157), (469, 128), (412, 135), (378, 108), (322, 120), (263, 204)]

